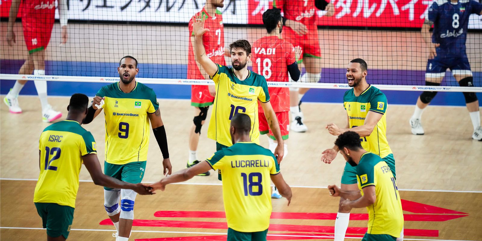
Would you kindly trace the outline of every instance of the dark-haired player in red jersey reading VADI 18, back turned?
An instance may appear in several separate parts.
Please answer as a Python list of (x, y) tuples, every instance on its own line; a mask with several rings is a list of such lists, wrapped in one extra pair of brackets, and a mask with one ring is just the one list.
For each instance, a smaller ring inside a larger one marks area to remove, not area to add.
[[(288, 82), (288, 72), (291, 78), (297, 81), (300, 71), (296, 60), (300, 57), (301, 50), (295, 50), (293, 44), (281, 39), (283, 21), (281, 10), (274, 8), (268, 9), (263, 13), (263, 24), (268, 34), (253, 43), (253, 71), (263, 75), (267, 81)], [(290, 111), (290, 92), (288, 88), (269, 87), (270, 103), (278, 118), (281, 136), (284, 140), (284, 156), (288, 154), (287, 139), (289, 134), (289, 111)], [(271, 129), (263, 108), (258, 105), (259, 110), (259, 133), (268, 134), (269, 149), (274, 153), (278, 145)], [(276, 189), (271, 194), (272, 198), (281, 198)]]

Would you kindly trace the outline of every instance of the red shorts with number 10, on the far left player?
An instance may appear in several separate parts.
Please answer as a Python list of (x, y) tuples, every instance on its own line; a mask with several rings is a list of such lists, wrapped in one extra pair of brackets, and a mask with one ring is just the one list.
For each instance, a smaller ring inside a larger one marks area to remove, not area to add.
[(55, 21), (55, 8), (26, 13), (22, 17), (22, 29), (28, 54), (41, 51), (49, 45)]

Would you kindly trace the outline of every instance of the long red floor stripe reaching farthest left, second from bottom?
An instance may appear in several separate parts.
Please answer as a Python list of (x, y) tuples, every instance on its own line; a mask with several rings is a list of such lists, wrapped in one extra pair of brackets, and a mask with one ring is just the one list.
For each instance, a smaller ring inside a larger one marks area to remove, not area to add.
[[(113, 225), (110, 219), (104, 219), (100, 225)], [(228, 229), (228, 224), (224, 222), (201, 222), (201, 221), (177, 221), (177, 220), (145, 220), (134, 219), (133, 226), (136, 227), (164, 227), (164, 228), (207, 228), (207, 229)], [(314, 226), (314, 225), (291, 225), (291, 224), (270, 224), (270, 231), (287, 232), (311, 232), (311, 233), (334, 233), (333, 226)], [(367, 228), (349, 227), (348, 234), (364, 234)], [(439, 230), (430, 229), (405, 229), (406, 236), (438, 237)]]

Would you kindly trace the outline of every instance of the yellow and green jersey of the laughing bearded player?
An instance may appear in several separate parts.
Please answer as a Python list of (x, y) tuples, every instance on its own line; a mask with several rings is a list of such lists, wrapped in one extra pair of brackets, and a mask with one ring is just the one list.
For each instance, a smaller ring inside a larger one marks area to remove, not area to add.
[(387, 96), (379, 89), (370, 85), (360, 96), (355, 96), (353, 88), (345, 92), (343, 105), (347, 110), (350, 128), (362, 126), (368, 111), (382, 114), (372, 134), (362, 137), (362, 147), (369, 152), (385, 158), (392, 153), (387, 141)]

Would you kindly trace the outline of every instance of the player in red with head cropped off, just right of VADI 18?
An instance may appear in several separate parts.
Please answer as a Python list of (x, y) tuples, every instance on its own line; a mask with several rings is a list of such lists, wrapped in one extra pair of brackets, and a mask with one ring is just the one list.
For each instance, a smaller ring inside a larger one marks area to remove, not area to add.
[[(273, 7), (283, 10), (285, 29), (282, 38), (301, 48), (302, 61), (306, 74), (301, 76), (302, 82), (318, 82), (321, 77), (321, 49), (316, 26), (316, 13), (326, 10), (325, 16), (333, 15), (333, 4), (326, 0), (274, 0)], [(292, 114), (291, 130), (306, 132), (308, 127), (303, 123), (303, 113), (299, 105), (308, 88), (293, 88), (290, 91), (290, 112)]]

